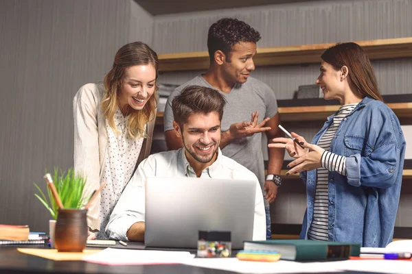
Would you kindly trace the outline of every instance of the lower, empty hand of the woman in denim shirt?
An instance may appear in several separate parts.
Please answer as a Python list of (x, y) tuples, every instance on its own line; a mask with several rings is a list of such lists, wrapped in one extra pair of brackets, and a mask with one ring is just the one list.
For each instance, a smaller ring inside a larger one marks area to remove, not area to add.
[(321, 167), (321, 158), (325, 149), (307, 142), (304, 142), (303, 146), (308, 149), (308, 152), (288, 164), (288, 169), (290, 170), (286, 175), (299, 173), (301, 171), (311, 171), (312, 169)]

